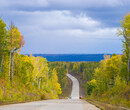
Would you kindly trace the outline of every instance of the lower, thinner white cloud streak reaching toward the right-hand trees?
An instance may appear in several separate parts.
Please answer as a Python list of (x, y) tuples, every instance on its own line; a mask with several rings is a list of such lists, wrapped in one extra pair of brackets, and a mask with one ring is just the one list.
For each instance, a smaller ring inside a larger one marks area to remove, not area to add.
[(117, 29), (116, 28), (98, 28), (93, 31), (87, 30), (66, 30), (65, 32), (61, 33), (68, 33), (68, 36), (71, 37), (79, 37), (85, 39), (118, 39), (116, 38)]

